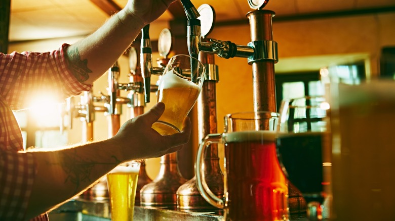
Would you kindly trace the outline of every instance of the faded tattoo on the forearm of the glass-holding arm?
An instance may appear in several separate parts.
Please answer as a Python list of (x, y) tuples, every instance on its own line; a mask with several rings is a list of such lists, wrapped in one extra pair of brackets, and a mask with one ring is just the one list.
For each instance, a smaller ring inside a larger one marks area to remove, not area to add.
[(92, 183), (91, 180), (92, 170), (96, 165), (114, 165), (114, 167), (121, 163), (121, 160), (117, 159), (115, 156), (111, 156), (113, 162), (97, 162), (89, 159), (84, 159), (76, 153), (65, 153), (63, 160), (59, 163), (60, 167), (66, 173), (67, 177), (64, 183), (71, 182), (75, 184), (74, 194), (81, 191), (80, 185), (83, 182)]

